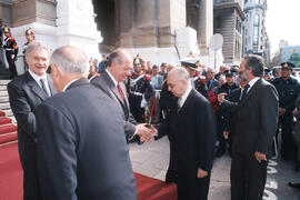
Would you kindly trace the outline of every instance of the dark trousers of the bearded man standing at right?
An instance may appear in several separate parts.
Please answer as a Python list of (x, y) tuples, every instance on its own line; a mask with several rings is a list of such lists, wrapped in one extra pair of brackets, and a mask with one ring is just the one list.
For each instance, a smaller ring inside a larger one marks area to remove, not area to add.
[(267, 161), (234, 153), (231, 158), (231, 200), (262, 200), (267, 179)]

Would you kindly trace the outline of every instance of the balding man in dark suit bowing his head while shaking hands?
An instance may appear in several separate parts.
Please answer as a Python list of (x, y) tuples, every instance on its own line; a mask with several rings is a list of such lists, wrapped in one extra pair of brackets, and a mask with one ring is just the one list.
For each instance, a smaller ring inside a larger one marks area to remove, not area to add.
[(206, 200), (212, 167), (216, 119), (210, 102), (192, 89), (189, 73), (176, 68), (168, 76), (169, 90), (178, 97), (173, 109), (158, 128), (159, 136), (172, 134), (178, 173), (179, 200)]

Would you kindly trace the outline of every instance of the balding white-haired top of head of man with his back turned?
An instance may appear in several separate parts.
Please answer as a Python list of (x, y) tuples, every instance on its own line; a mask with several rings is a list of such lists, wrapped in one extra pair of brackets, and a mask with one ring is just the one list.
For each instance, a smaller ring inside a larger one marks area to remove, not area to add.
[(58, 48), (51, 57), (50, 64), (56, 64), (63, 73), (79, 73), (84, 77), (89, 73), (89, 60), (79, 48), (63, 46)]

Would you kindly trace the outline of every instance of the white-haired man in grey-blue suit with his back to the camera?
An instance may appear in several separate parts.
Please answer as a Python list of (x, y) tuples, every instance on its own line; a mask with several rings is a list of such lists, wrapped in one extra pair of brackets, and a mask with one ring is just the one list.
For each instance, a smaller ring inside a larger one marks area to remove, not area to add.
[(122, 110), (87, 79), (87, 54), (61, 47), (51, 57), (60, 92), (37, 109), (38, 170), (44, 200), (136, 200)]

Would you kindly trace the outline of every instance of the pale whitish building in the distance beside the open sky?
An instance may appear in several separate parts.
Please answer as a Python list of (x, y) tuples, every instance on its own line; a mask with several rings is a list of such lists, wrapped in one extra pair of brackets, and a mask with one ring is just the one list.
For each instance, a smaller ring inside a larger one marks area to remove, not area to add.
[(267, 0), (244, 0), (246, 20), (243, 29), (242, 53), (257, 53), (270, 62), (270, 41), (266, 30)]

